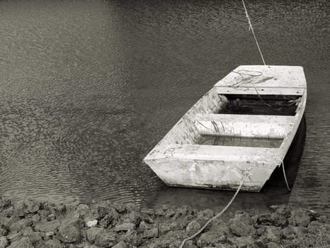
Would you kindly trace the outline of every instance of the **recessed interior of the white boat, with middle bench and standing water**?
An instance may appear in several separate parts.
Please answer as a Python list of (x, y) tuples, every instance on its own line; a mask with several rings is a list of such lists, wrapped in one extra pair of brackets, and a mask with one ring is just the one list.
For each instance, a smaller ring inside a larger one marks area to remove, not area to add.
[(164, 149), (171, 145), (190, 147), (186, 152), (206, 145), (241, 150), (278, 148), (295, 125), (301, 97), (218, 94), (213, 88), (183, 115), (159, 145)]

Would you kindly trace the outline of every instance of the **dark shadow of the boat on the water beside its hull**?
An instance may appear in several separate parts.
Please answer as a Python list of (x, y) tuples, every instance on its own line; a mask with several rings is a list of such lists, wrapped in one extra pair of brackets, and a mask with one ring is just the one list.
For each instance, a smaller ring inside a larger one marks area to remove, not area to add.
[[(288, 154), (284, 159), (285, 173), (290, 188), (294, 187), (300, 159), (305, 145), (306, 120), (302, 118), (295, 138), (290, 146)], [(164, 191), (150, 201), (147, 205), (159, 207), (160, 205), (188, 205), (192, 208), (221, 210), (230, 201), (234, 191), (216, 191), (196, 188), (174, 188), (164, 186)], [(242, 209), (267, 209), (270, 205), (288, 203), (290, 192), (285, 186), (282, 167), (273, 172), (271, 178), (266, 182), (260, 193), (241, 192), (238, 194), (230, 210)]]

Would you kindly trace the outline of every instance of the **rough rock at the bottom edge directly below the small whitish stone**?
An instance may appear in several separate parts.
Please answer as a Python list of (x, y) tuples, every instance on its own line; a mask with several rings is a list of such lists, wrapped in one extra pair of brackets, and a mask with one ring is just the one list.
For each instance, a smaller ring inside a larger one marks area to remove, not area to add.
[(116, 243), (115, 234), (102, 227), (91, 227), (86, 230), (86, 239), (99, 247), (111, 247)]

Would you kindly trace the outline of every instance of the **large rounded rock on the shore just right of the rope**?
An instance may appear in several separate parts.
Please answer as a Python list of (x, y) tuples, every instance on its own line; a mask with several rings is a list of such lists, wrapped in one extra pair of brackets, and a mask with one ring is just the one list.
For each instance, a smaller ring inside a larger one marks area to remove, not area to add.
[(249, 214), (237, 214), (229, 220), (229, 229), (237, 236), (254, 235), (256, 229), (252, 226), (252, 220)]

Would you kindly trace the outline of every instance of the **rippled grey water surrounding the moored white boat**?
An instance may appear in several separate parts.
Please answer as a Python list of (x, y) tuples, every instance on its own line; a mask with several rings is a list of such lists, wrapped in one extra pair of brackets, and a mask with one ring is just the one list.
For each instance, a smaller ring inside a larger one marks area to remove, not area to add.
[[(232, 209), (330, 213), (330, 2), (246, 6), (266, 62), (305, 67), (307, 131), (292, 192), (279, 174)], [(167, 188), (142, 158), (240, 64), (261, 64), (240, 1), (0, 1), (0, 195), (222, 208), (233, 192)]]

